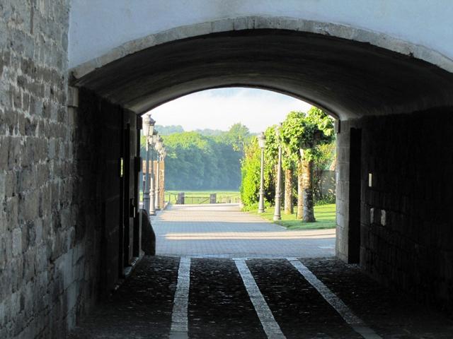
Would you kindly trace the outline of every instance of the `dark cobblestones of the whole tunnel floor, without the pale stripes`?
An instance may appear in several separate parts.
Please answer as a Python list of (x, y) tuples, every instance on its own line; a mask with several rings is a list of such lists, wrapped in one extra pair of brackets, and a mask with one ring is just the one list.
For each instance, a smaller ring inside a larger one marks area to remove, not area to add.
[[(291, 264), (294, 260), (246, 260), (246, 267), (271, 315), (252, 304), (248, 290), (227, 258), (190, 258), (188, 333), (170, 337), (178, 283), (176, 257), (144, 257), (130, 278), (71, 339), (83, 338), (384, 338), (447, 339), (453, 323), (442, 314), (377, 285), (355, 266), (333, 258), (300, 258), (345, 307), (360, 317), (377, 336), (361, 336), (328, 304)], [(180, 306), (180, 305), (179, 305)], [(179, 309), (180, 311), (180, 309)], [(267, 317), (263, 320), (264, 316)], [(258, 316), (258, 313), (261, 315)], [(272, 318), (272, 319), (270, 319)], [(263, 321), (275, 321), (282, 336), (268, 336)]]

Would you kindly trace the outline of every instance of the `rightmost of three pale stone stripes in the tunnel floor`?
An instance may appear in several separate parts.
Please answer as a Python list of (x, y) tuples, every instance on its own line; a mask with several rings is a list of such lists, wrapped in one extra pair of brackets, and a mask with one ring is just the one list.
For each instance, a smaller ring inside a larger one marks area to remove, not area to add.
[(303, 263), (301, 263), (297, 258), (287, 258), (294, 268), (296, 268), (300, 274), (304, 276), (306, 281), (308, 281), (319, 294), (326, 299), (326, 302), (331, 304), (331, 306), (340, 314), (340, 316), (348, 323), (352, 329), (362, 335), (365, 339), (382, 339), (380, 335), (375, 333), (371, 328), (369, 328), (362, 319), (356, 316), (349, 307), (335, 295), (326, 285), (324, 285), (321, 280), (316, 278), (311, 270), (309, 270)]

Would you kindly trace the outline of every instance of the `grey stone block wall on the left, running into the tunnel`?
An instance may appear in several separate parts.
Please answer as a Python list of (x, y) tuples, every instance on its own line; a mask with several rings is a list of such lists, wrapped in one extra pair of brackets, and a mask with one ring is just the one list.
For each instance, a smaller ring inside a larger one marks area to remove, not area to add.
[(0, 338), (62, 338), (98, 294), (96, 128), (67, 109), (69, 0), (0, 1)]

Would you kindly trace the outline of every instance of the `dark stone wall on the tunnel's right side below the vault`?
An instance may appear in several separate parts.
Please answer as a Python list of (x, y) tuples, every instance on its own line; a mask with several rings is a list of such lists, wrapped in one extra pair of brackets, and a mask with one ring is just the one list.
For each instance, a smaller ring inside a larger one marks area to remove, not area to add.
[[(350, 246), (360, 246), (360, 266), (379, 282), (450, 311), (452, 111), (341, 121), (337, 174), (340, 258), (348, 260)], [(362, 131), (360, 244), (348, 240), (351, 127)]]

